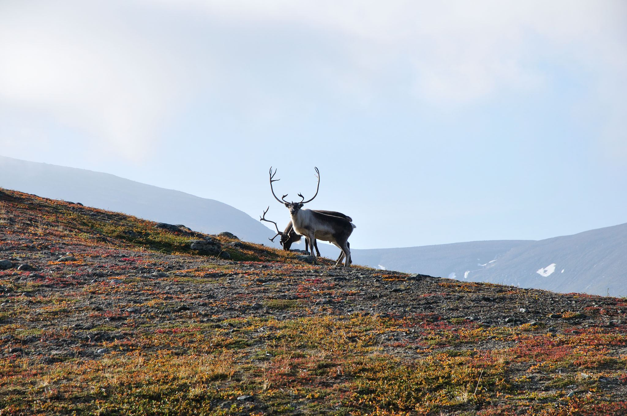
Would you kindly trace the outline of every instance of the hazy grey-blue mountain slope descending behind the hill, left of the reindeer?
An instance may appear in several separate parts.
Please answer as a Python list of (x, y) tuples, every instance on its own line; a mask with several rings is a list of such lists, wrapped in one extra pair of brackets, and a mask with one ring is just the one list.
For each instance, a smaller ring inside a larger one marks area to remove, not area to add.
[(81, 202), (152, 221), (184, 224), (195, 231), (229, 231), (271, 244), (274, 235), (245, 212), (217, 200), (142, 184), (115, 175), (0, 156), (0, 187), (52, 199)]

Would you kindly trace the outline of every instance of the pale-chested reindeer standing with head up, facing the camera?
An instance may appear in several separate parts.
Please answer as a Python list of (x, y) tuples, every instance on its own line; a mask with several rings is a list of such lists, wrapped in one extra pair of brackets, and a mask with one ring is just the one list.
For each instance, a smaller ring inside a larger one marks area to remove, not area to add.
[(318, 185), (316, 187), (315, 195), (311, 199), (305, 200), (305, 197), (301, 194), (298, 194), (298, 196), (301, 197), (301, 200), (298, 202), (287, 202), (285, 197), (287, 197), (288, 194), (285, 194), (281, 197), (281, 199), (278, 199), (277, 195), (274, 193), (272, 182), (277, 182), (279, 179), (273, 179), (274, 175), (277, 174), (277, 170), (275, 169), (275, 172), (272, 173), (272, 168), (270, 168), (270, 190), (272, 191), (273, 197), (290, 210), (293, 230), (297, 234), (305, 236), (305, 239), (309, 240), (310, 254), (314, 254), (313, 243), (315, 239), (329, 241), (342, 250), (340, 257), (337, 259), (337, 263), (335, 264), (340, 264), (342, 259), (345, 258), (344, 266), (347, 267), (350, 264), (348, 239), (355, 228), (354, 224), (342, 217), (331, 216), (329, 214), (323, 214), (322, 212), (316, 212), (310, 209), (302, 209), (304, 204), (311, 202), (318, 195), (318, 190), (320, 189), (320, 171), (318, 168), (315, 168), (315, 171), (317, 174), (316, 177), (318, 178)]

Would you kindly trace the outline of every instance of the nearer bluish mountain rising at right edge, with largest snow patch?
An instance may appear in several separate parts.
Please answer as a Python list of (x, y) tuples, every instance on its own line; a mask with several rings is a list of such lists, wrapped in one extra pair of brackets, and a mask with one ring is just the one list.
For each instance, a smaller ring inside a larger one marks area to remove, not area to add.
[(468, 280), (627, 296), (627, 224), (514, 247)]

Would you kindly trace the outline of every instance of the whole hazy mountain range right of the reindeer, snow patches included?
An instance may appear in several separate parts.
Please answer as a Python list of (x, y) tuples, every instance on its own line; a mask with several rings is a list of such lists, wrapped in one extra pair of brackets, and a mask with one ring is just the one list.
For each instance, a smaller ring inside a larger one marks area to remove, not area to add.
[[(332, 257), (337, 249), (320, 246)], [(627, 224), (540, 241), (471, 241), (352, 251), (373, 268), (562, 293), (627, 296)], [(337, 254), (335, 254), (337, 256)]]

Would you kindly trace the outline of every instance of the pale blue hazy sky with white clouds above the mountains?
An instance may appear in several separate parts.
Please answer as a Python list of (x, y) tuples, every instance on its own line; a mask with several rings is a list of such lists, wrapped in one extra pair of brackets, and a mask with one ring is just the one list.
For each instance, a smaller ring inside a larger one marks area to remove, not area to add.
[[(0, 0), (0, 154), (355, 248), (627, 222), (624, 1)], [(1, 185), (1, 184), (0, 184)]]

